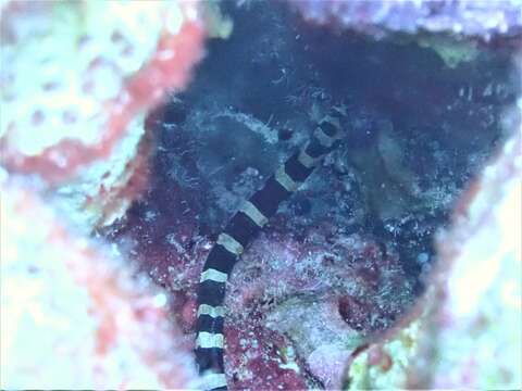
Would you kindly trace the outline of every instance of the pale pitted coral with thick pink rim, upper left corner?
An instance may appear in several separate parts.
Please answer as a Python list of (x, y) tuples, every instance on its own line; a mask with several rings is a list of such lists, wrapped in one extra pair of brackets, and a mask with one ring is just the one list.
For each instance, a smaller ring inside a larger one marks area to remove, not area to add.
[[(183, 5), (16, 1), (7, 7), (2, 87), (12, 113), (2, 121), (3, 163), (13, 172), (63, 179), (108, 157), (138, 114), (166, 91), (186, 87), (202, 55), (197, 9)], [(112, 26), (95, 30), (120, 12)], [(146, 28), (153, 34), (144, 35)], [(24, 144), (34, 131), (44, 135)]]

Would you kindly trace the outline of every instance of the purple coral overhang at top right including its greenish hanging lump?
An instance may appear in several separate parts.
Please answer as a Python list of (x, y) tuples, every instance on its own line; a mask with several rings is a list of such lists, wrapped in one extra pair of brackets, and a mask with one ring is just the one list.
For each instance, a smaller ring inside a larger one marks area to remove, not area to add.
[(519, 47), (520, 0), (289, 1), (310, 23), (372, 39), (415, 42), (449, 67), (473, 60), (485, 42)]

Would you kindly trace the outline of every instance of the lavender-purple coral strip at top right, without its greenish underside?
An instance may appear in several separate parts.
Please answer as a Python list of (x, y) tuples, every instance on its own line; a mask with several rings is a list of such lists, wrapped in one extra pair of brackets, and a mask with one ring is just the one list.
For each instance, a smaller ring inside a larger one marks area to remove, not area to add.
[(290, 1), (304, 18), (376, 38), (394, 33), (452, 33), (490, 39), (520, 34), (520, 0)]

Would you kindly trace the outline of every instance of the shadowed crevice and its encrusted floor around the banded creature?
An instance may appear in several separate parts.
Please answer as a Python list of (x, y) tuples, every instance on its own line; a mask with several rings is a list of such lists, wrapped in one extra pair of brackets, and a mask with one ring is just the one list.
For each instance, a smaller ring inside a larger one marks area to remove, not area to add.
[[(338, 388), (356, 357), (381, 363), (378, 349), (364, 346), (391, 338), (386, 330), (424, 290), (434, 232), (504, 139), (502, 108), (519, 85), (510, 52), (486, 50), (448, 67), (428, 49), (296, 31), (287, 14), (249, 7), (233, 11), (228, 41), (210, 42), (211, 61), (190, 88), (152, 116), (160, 134), (153, 182), (111, 240), (129, 245), (181, 298), (176, 312), (192, 330), (208, 238), (306, 142), (310, 118), (341, 98), (345, 144), (245, 253), (227, 287), (225, 320), (231, 387)], [(352, 56), (332, 55), (338, 52)], [(234, 78), (216, 77), (231, 59), (251, 60), (234, 64)], [(473, 134), (462, 130), (470, 126)], [(389, 369), (382, 387), (405, 383), (418, 329), (384, 348), (393, 369), (382, 364)]]

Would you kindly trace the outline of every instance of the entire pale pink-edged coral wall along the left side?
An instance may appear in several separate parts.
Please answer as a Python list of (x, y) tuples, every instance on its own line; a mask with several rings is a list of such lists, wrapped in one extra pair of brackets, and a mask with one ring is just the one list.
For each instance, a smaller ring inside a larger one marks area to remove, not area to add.
[(200, 3), (1, 7), (1, 387), (196, 387), (167, 294), (90, 234), (145, 190), (145, 117), (203, 55)]

